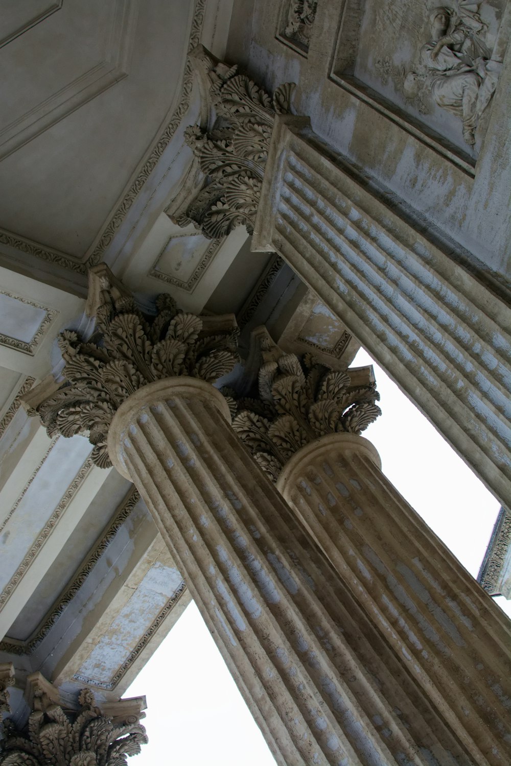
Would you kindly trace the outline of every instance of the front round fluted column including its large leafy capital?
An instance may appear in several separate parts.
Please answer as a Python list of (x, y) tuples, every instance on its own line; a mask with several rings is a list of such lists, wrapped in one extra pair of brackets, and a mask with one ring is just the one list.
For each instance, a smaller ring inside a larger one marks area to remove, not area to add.
[(62, 339), (44, 421), (88, 426), (134, 481), (280, 763), (473, 764), (234, 433), (210, 383), (235, 362), (228, 318), (168, 300), (151, 319), (106, 291), (93, 340)]

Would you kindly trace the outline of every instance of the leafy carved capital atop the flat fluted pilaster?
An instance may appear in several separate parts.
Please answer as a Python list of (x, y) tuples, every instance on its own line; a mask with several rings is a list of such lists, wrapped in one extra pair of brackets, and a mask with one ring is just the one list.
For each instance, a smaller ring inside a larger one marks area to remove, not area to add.
[(207, 133), (199, 126), (185, 131), (206, 182), (176, 221), (181, 226), (193, 222), (209, 239), (224, 237), (239, 225), (251, 234), (274, 117), (289, 111), (293, 86), (281, 85), (270, 97), (237, 74), (237, 67), (221, 64), (201, 46), (195, 63), (208, 78), (208, 97), (217, 119)]

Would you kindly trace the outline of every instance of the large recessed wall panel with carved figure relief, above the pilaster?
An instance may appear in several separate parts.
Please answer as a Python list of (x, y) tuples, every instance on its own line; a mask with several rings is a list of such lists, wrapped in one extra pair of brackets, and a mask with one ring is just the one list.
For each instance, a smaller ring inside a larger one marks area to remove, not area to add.
[(472, 163), (502, 67), (506, 0), (346, 0), (334, 79)]

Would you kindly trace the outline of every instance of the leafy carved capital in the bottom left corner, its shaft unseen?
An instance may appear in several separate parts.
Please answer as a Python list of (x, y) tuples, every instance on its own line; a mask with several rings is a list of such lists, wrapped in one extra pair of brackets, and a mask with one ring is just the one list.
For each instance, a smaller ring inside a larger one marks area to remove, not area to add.
[(78, 712), (64, 712), (60, 705), (32, 712), (25, 732), (6, 720), (0, 766), (126, 766), (126, 756), (137, 755), (148, 741), (139, 719), (114, 725), (94, 706), (89, 689), (78, 701)]

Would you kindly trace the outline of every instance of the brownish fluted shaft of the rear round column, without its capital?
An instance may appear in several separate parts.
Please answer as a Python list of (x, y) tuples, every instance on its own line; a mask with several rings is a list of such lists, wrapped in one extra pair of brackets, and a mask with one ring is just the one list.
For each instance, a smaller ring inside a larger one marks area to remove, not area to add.
[(509, 764), (508, 620), (385, 478), (372, 444), (323, 437), (277, 486), (474, 761)]

